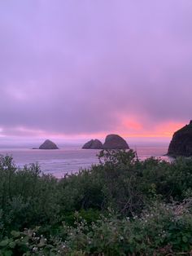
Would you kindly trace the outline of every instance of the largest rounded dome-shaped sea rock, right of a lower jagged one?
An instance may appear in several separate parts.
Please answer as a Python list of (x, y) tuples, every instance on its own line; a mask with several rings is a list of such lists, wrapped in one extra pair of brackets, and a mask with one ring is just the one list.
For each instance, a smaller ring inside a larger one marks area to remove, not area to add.
[(129, 149), (128, 143), (120, 135), (107, 135), (104, 149)]

